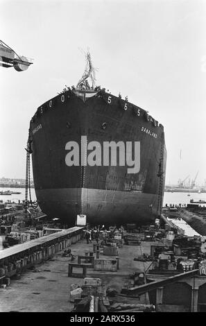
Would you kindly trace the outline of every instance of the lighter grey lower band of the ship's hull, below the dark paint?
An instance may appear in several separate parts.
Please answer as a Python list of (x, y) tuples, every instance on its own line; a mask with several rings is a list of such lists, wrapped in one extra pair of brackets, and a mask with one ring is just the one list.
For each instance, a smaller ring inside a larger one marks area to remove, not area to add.
[(71, 188), (37, 190), (36, 194), (46, 214), (58, 217), (61, 212), (72, 225), (80, 212), (87, 214), (90, 223), (149, 223), (156, 216), (153, 207), (158, 202), (157, 195), (135, 191)]

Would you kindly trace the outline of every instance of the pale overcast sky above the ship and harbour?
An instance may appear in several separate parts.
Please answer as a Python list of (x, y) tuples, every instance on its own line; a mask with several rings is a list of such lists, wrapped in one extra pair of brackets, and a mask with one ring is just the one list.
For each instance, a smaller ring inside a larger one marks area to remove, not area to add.
[[(166, 182), (206, 178), (206, 1), (0, 0), (0, 39), (34, 59), (0, 67), (0, 177), (24, 178), (29, 121), (76, 85), (92, 54), (97, 85), (164, 126)], [(180, 157), (180, 151), (182, 151)], [(181, 158), (181, 159), (180, 159)]]

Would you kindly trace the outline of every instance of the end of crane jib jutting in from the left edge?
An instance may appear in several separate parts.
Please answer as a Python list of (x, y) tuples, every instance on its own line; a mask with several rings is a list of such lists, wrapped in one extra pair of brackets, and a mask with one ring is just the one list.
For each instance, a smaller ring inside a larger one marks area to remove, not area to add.
[(32, 59), (18, 55), (10, 46), (0, 40), (0, 67), (14, 67), (17, 71), (25, 71), (32, 64)]

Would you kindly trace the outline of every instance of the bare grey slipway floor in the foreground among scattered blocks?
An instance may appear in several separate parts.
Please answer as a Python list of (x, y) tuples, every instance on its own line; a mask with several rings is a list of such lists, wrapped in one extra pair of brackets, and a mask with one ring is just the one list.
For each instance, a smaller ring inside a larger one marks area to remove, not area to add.
[[(96, 243), (96, 242), (94, 242)], [(120, 268), (117, 272), (96, 272), (87, 269), (87, 277), (99, 277), (103, 285), (121, 291), (129, 275), (134, 271), (144, 271), (151, 263), (134, 261), (134, 258), (145, 254), (150, 255), (153, 242), (141, 242), (140, 246), (119, 248)], [(85, 250), (92, 251), (93, 243), (85, 239), (71, 245), (73, 255), (84, 255)], [(95, 254), (94, 254), (95, 255)], [(100, 255), (101, 257), (103, 254)], [(69, 257), (56, 254), (44, 264), (35, 265), (34, 270), (22, 273), (20, 280), (11, 280), (10, 286), (0, 289), (0, 312), (69, 312), (74, 305), (69, 301), (71, 284), (81, 284), (82, 278), (67, 277)]]

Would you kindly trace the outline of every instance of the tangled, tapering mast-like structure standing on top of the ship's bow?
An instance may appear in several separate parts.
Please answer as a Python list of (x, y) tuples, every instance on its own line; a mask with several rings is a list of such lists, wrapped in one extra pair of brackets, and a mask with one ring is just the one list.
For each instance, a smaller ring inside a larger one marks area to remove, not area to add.
[[(87, 51), (87, 53), (85, 54), (85, 58), (86, 58), (85, 71), (82, 78), (80, 78), (80, 80), (78, 81), (78, 84), (76, 85), (76, 89), (85, 90), (85, 89), (94, 89), (95, 87), (95, 80), (96, 80), (95, 69), (92, 65), (92, 58), (89, 51)], [(92, 80), (92, 86), (89, 85), (89, 82), (87, 80), (88, 78)]]

